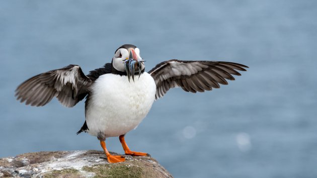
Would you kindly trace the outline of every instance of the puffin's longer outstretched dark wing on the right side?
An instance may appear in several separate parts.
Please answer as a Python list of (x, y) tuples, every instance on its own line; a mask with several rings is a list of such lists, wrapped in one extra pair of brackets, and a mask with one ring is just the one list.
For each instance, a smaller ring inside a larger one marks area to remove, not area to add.
[(231, 75), (241, 75), (236, 70), (246, 71), (246, 65), (219, 61), (182, 61), (172, 59), (161, 62), (148, 73), (156, 83), (155, 99), (162, 98), (170, 88), (182, 87), (186, 92), (211, 91), (220, 84), (228, 84)]

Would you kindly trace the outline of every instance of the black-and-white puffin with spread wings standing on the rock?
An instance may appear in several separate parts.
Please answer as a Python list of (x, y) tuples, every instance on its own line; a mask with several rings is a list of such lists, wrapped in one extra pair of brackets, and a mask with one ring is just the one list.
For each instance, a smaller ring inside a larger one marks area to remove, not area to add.
[(86, 98), (85, 123), (77, 132), (96, 136), (109, 163), (125, 161), (123, 155), (110, 154), (106, 138), (119, 137), (126, 155), (146, 156), (131, 151), (124, 136), (145, 118), (154, 101), (171, 88), (181, 87), (197, 93), (219, 88), (241, 75), (248, 66), (221, 61), (172, 59), (145, 71), (140, 49), (131, 44), (120, 46), (111, 63), (85, 75), (79, 65), (68, 65), (35, 75), (20, 84), (15, 96), (21, 103), (44, 106), (54, 97), (65, 107)]

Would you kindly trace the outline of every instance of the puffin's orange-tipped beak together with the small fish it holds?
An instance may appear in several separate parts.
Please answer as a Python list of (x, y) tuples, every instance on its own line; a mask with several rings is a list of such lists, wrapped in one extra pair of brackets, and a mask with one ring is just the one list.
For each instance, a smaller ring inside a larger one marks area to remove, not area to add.
[(125, 63), (125, 71), (127, 72), (128, 79), (130, 81), (130, 76), (132, 76), (132, 80), (134, 81), (135, 69), (138, 70), (139, 77), (141, 75), (141, 62), (144, 62), (143, 59), (138, 59), (134, 49), (129, 49), (129, 59), (123, 60)]

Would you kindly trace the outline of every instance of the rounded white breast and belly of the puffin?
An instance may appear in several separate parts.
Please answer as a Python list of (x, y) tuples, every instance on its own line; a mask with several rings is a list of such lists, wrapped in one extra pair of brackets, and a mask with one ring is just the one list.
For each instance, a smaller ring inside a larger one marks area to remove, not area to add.
[(92, 95), (86, 109), (86, 121), (91, 135), (120, 136), (139, 125), (149, 112), (156, 85), (148, 73), (134, 82), (127, 76), (101, 75), (92, 86)]

